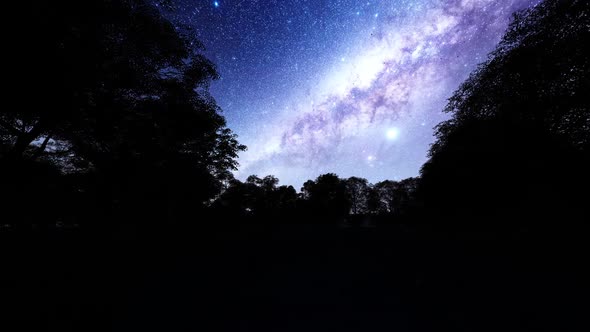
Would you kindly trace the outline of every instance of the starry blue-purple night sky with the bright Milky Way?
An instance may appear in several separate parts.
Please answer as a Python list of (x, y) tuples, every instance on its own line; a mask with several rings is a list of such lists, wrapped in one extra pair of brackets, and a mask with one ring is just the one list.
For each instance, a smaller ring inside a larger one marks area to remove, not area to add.
[(446, 99), (538, 0), (177, 0), (248, 151), (239, 179), (419, 173)]

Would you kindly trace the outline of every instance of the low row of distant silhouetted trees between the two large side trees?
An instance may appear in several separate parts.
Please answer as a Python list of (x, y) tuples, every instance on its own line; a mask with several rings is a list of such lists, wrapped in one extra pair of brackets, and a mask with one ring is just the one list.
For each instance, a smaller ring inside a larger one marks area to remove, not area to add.
[(245, 182), (230, 180), (211, 207), (219, 214), (234, 217), (297, 216), (327, 222), (348, 215), (399, 217), (416, 207), (417, 184), (417, 178), (371, 184), (367, 179), (328, 173), (306, 181), (298, 193), (293, 186), (279, 186), (279, 179), (272, 175), (251, 175)]

